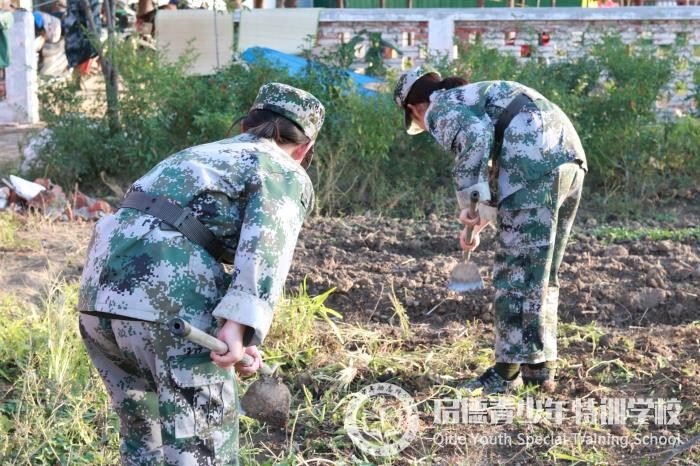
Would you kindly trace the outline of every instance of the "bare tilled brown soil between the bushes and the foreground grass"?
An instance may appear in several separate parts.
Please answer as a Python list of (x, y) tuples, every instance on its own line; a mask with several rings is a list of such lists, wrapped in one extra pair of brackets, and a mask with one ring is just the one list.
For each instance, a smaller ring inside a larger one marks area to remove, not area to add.
[[(690, 237), (700, 229), (680, 227)], [(595, 231), (593, 231), (595, 233)], [(461, 257), (458, 223), (370, 219), (314, 219), (301, 234), (292, 283), (304, 277), (312, 294), (331, 287), (329, 306), (358, 320), (384, 322), (396, 295), (412, 321), (442, 325), (478, 318), (491, 322), (494, 230), (472, 254), (484, 290), (448, 292)], [(560, 269), (563, 322), (618, 327), (698, 320), (700, 255), (697, 242), (635, 240), (609, 243), (575, 234)]]

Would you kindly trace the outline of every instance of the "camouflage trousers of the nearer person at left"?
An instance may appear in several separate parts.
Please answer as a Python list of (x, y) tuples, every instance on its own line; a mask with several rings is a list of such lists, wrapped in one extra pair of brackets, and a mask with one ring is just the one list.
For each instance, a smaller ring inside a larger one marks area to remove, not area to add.
[(155, 322), (81, 314), (80, 333), (119, 415), (122, 464), (238, 464), (236, 380), (208, 350)]

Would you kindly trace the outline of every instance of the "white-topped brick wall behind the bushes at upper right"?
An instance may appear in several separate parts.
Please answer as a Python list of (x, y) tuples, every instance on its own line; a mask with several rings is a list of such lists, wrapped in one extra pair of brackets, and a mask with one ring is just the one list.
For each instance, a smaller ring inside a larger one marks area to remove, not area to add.
[[(399, 46), (403, 56), (386, 54), (396, 67), (420, 63), (425, 51), (452, 57), (455, 43), (475, 40), (521, 60), (576, 57), (610, 33), (626, 42), (642, 40), (659, 55), (675, 47), (685, 63), (659, 107), (672, 113), (695, 110), (688, 65), (700, 65), (700, 7), (325, 10), (318, 45), (336, 45), (362, 29), (381, 32)], [(362, 50), (357, 57), (355, 65), (362, 67)]]

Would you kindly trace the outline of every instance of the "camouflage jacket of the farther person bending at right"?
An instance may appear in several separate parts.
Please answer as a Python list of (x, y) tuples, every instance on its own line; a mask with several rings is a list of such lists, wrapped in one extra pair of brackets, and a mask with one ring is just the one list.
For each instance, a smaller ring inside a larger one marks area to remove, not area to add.
[[(518, 94), (534, 102), (505, 131), (503, 147), (495, 154), (494, 131), (498, 117)], [(510, 81), (484, 81), (436, 91), (430, 96), (425, 123), (430, 134), (455, 155), (454, 178), (462, 208), (469, 193), (478, 190), (481, 201), (492, 199), (489, 160), (498, 164), (498, 202), (559, 165), (586, 156), (567, 116), (537, 91)]]

